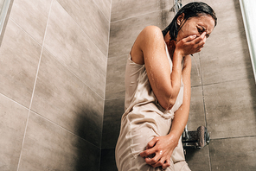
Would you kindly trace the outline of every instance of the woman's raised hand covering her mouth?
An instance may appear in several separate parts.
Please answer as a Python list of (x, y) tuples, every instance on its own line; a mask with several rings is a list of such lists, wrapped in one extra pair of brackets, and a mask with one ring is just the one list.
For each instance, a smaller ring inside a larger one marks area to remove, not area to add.
[(202, 50), (205, 41), (206, 32), (203, 32), (202, 35), (198, 37), (196, 37), (196, 35), (189, 35), (176, 43), (175, 51), (181, 53), (182, 57), (189, 54), (195, 54)]

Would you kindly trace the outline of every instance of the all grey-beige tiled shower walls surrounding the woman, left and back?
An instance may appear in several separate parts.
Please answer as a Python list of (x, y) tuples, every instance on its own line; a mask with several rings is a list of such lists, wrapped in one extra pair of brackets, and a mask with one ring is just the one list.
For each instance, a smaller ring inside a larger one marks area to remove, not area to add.
[[(239, 0), (202, 0), (217, 27), (195, 54), (189, 130), (206, 125), (194, 171), (256, 169), (256, 86)], [(182, 0), (182, 4), (192, 0)], [(0, 48), (0, 170), (117, 170), (125, 62), (173, 0), (13, 0)]]

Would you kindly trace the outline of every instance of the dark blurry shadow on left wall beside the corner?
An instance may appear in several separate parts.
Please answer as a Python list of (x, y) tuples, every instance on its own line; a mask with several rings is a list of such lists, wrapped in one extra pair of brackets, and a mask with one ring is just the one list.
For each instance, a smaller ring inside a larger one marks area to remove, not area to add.
[[(82, 105), (77, 108), (76, 135), (79, 138), (74, 147), (77, 151), (75, 170), (99, 171), (101, 125), (99, 112), (94, 111), (90, 105)], [(100, 123), (99, 123), (100, 121)], [(86, 140), (86, 141), (85, 141)]]

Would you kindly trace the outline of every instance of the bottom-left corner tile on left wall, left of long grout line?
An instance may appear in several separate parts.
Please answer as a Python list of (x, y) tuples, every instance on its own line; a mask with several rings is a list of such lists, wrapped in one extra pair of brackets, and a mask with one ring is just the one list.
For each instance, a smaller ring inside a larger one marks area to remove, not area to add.
[(0, 170), (16, 170), (29, 110), (0, 95)]

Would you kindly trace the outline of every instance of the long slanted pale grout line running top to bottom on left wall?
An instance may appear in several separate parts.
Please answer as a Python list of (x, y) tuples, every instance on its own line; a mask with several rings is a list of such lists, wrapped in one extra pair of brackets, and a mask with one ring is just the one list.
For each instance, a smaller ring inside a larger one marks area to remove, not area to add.
[(21, 159), (22, 159), (22, 150), (23, 150), (23, 146), (24, 146), (24, 142), (25, 142), (26, 133), (27, 133), (27, 130), (28, 130), (29, 116), (30, 116), (30, 112), (31, 112), (32, 101), (33, 101), (33, 98), (34, 98), (35, 85), (36, 85), (36, 80), (37, 80), (37, 76), (38, 76), (39, 68), (40, 68), (40, 63), (41, 63), (41, 59), (42, 59), (42, 51), (43, 51), (44, 41), (45, 41), (45, 37), (46, 37), (46, 33), (47, 33), (49, 16), (51, 14), (52, 4), (53, 4), (53, 0), (51, 1), (51, 4), (50, 4), (49, 13), (48, 13), (48, 21), (47, 21), (45, 32), (44, 32), (44, 35), (43, 35), (42, 49), (41, 49), (41, 54), (40, 54), (40, 58), (39, 58), (38, 66), (37, 66), (36, 75), (35, 75), (35, 84), (34, 84), (32, 96), (31, 96), (31, 99), (30, 99), (29, 114), (28, 114), (28, 117), (27, 117), (27, 122), (26, 122), (25, 130), (24, 130), (24, 136), (23, 136), (23, 140), (22, 140), (22, 149), (21, 149), (21, 154), (20, 154), (20, 157), (19, 157), (18, 165), (17, 165), (17, 171), (19, 170)]

